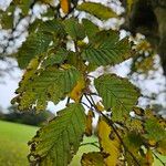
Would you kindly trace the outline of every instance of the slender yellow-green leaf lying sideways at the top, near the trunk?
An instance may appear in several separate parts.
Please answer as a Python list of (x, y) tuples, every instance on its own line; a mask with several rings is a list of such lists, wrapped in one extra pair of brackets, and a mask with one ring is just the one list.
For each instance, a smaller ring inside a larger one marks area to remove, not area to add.
[(77, 6), (76, 9), (89, 12), (101, 20), (117, 18), (117, 14), (111, 8), (107, 8), (101, 3), (83, 2), (82, 4)]

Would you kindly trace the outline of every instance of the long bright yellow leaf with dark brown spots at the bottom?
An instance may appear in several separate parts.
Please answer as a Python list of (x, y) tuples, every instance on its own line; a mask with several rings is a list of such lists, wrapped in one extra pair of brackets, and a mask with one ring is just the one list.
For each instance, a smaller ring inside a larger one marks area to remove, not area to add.
[(98, 121), (98, 141), (101, 151), (107, 154), (104, 163), (107, 166), (116, 166), (121, 154), (121, 143), (112, 127), (104, 120)]

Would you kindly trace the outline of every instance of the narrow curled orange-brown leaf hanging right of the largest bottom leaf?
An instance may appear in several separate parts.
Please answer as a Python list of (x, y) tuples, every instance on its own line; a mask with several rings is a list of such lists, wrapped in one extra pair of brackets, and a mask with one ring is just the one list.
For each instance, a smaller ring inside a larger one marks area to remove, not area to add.
[(86, 115), (86, 128), (85, 128), (85, 135), (91, 136), (92, 135), (92, 122), (93, 122), (94, 113), (93, 111), (89, 111)]

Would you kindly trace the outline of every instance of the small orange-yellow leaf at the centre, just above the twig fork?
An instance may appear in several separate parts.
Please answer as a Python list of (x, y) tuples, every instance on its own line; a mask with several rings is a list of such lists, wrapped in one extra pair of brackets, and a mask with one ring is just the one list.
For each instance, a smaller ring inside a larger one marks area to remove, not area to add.
[(75, 102), (79, 102), (80, 98), (81, 98), (81, 96), (82, 96), (82, 92), (83, 92), (84, 87), (85, 87), (85, 81), (84, 81), (83, 77), (81, 77), (81, 79), (77, 81), (75, 87), (72, 90), (72, 92), (70, 93), (69, 96), (70, 96), (72, 100), (74, 100)]

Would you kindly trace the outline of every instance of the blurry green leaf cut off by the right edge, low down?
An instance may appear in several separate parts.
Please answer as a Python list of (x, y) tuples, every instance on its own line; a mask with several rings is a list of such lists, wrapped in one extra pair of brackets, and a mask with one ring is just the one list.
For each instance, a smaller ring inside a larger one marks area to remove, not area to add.
[(166, 131), (158, 124), (158, 121), (155, 118), (148, 118), (145, 121), (145, 137), (152, 141), (164, 141), (166, 139)]

